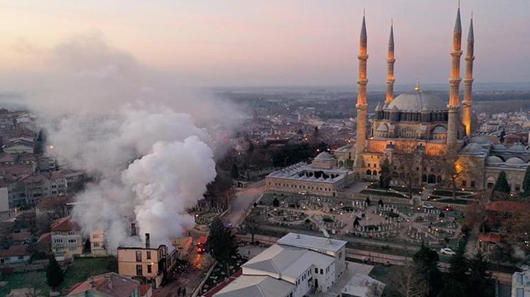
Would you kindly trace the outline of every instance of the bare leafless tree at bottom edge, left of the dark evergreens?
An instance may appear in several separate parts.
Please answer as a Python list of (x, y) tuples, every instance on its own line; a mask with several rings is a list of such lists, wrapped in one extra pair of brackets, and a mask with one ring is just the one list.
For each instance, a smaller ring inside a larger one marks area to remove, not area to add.
[(411, 264), (397, 267), (390, 283), (402, 297), (425, 297), (429, 292), (425, 278), (418, 274), (414, 265)]

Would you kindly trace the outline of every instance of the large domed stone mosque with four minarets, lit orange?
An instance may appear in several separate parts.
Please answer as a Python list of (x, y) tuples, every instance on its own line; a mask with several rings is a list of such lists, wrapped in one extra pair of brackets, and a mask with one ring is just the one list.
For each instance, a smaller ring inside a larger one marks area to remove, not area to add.
[[(489, 189), (501, 171), (505, 171), (512, 192), (522, 190), (524, 173), (530, 164), (530, 151), (523, 144), (505, 147), (497, 137), (471, 135), (473, 97), (474, 32), (473, 17), (469, 23), (465, 52), (464, 96), (460, 102), (460, 59), (463, 54), (460, 7), (456, 12), (453, 30), (449, 98), (423, 90), (419, 83), (414, 90), (394, 98), (394, 28), (390, 27), (387, 57), (387, 92), (385, 102), (377, 104), (375, 115), (368, 125), (366, 89), (368, 75), (368, 35), (365, 17), (359, 42), (359, 78), (357, 80), (357, 144), (343, 146), (330, 155), (321, 153), (312, 164), (297, 164), (275, 171), (266, 177), (270, 190), (287, 192), (307, 191), (335, 196), (355, 180), (379, 180), (381, 164), (388, 159), (393, 175), (404, 170), (399, 162), (413, 162), (405, 166), (415, 170), (416, 186), (447, 186), (443, 172), (448, 152), (458, 154), (456, 166), (469, 166), (456, 180), (458, 188)], [(369, 131), (366, 131), (369, 126)], [(368, 133), (367, 133), (368, 132)], [(403, 159), (413, 156), (412, 159)], [(324, 166), (326, 164), (326, 166)], [(352, 165), (351, 165), (352, 164)], [(447, 168), (447, 167), (445, 167)], [(395, 182), (395, 181), (394, 181)], [(316, 190), (315, 190), (316, 189)]]

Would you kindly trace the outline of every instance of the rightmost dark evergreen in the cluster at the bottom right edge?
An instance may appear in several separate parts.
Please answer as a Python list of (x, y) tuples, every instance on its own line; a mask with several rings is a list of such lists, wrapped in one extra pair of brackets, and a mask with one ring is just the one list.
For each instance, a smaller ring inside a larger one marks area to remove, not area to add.
[(483, 254), (478, 251), (473, 259), (469, 260), (469, 283), (467, 291), (469, 296), (493, 297), (495, 296), (494, 283), (489, 278), (489, 263)]

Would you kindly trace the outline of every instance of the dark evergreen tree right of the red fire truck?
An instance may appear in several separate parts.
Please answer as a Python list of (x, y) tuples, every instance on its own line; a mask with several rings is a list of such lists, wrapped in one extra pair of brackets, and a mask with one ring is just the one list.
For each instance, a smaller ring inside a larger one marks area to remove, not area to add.
[(221, 265), (226, 266), (226, 277), (230, 276), (229, 263), (232, 256), (237, 254), (237, 241), (230, 228), (226, 228), (222, 219), (216, 218), (210, 225), (210, 234), (206, 241), (206, 252), (218, 261)]

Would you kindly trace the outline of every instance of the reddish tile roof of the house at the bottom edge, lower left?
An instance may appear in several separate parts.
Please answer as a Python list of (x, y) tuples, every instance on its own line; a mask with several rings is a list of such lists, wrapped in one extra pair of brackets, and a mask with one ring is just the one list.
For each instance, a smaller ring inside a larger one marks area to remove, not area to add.
[(140, 287), (140, 283), (138, 283), (138, 281), (134, 281), (131, 278), (126, 278), (125, 276), (120, 276), (115, 272), (109, 272), (107, 274), (94, 276), (94, 287), (91, 287), (90, 281), (87, 280), (76, 285), (70, 290), (70, 292), (68, 292), (67, 296), (72, 296), (87, 292), (90, 289), (95, 289), (97, 292), (101, 292), (107, 296), (129, 297), (137, 287)]

